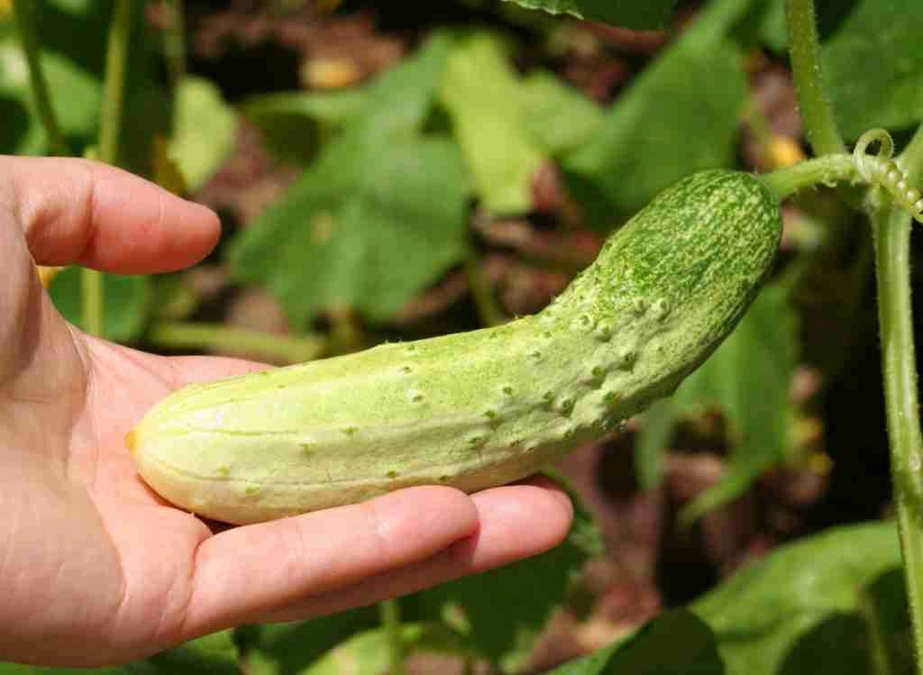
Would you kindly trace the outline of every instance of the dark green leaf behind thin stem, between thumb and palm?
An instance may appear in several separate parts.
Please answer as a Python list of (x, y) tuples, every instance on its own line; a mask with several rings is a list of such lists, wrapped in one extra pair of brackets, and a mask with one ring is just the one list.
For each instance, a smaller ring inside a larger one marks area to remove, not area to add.
[[(146, 275), (103, 274), (104, 336), (117, 343), (140, 337), (150, 317), (150, 278)], [(60, 271), (48, 289), (54, 306), (64, 318), (83, 327), (80, 268)]]

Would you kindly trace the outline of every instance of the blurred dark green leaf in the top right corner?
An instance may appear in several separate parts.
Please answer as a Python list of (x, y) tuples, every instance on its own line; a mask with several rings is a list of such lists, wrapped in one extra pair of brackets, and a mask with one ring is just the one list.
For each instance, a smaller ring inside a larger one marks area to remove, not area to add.
[(863, 0), (823, 43), (821, 67), (847, 139), (923, 120), (923, 3)]

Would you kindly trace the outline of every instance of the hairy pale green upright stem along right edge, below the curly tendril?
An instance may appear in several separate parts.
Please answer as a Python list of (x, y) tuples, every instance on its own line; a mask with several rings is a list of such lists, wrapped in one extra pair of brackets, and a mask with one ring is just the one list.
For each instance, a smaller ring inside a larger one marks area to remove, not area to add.
[(898, 532), (907, 599), (923, 673), (923, 440), (917, 402), (917, 356), (910, 299), (910, 216), (899, 208), (872, 214), (881, 331), (881, 373), (891, 445)]

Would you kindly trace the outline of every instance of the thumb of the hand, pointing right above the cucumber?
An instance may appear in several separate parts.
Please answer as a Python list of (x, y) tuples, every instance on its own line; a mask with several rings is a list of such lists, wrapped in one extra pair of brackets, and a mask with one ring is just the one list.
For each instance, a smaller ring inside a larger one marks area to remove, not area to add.
[(0, 166), (0, 200), (40, 265), (175, 271), (207, 256), (221, 235), (207, 207), (107, 164), (0, 156)]

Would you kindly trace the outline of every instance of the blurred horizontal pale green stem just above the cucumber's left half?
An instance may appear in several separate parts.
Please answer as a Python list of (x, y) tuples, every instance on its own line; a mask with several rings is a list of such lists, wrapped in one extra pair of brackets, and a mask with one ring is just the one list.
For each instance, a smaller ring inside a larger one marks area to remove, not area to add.
[(302, 363), (321, 356), (326, 341), (318, 335), (276, 335), (215, 323), (159, 321), (146, 334), (151, 344), (173, 349), (214, 349), (264, 355), (282, 363)]

